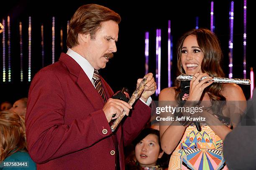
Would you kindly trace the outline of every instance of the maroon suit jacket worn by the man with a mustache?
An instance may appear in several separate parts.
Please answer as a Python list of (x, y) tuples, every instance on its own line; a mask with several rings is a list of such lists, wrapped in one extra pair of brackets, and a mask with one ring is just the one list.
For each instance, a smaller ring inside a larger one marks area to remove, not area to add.
[[(101, 81), (110, 98), (112, 89)], [(114, 170), (115, 155), (110, 152), (115, 145), (102, 111), (104, 104), (82, 68), (67, 54), (61, 53), (58, 62), (41, 69), (31, 83), (26, 113), (28, 152), (38, 170)], [(122, 170), (123, 146), (143, 129), (150, 112), (138, 100), (115, 130)]]

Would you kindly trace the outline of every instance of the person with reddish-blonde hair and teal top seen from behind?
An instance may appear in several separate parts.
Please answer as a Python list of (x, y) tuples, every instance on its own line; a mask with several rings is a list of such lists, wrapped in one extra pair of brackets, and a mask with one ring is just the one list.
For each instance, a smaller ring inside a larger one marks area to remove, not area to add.
[(11, 111), (0, 112), (0, 170), (36, 170), (26, 143), (24, 118)]

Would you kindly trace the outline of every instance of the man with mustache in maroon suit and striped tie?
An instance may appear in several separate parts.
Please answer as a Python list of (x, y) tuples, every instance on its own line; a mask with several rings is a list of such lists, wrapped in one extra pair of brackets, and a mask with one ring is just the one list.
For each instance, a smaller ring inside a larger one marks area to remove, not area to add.
[(156, 83), (148, 74), (129, 117), (111, 132), (109, 122), (123, 111), (128, 115), (131, 106), (110, 98), (113, 91), (97, 70), (105, 68), (117, 50), (119, 22), (120, 16), (106, 7), (81, 6), (70, 21), (67, 54), (61, 53), (58, 62), (34, 77), (26, 135), (38, 170), (124, 169), (123, 146), (133, 141), (150, 118), (148, 106)]

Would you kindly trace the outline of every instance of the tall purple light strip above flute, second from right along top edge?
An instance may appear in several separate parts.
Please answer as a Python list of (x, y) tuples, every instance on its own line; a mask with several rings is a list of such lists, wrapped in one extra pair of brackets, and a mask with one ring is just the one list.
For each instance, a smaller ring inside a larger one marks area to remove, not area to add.
[(231, 7), (229, 12), (229, 20), (230, 20), (230, 40), (229, 40), (229, 74), (228, 77), (232, 79), (233, 77), (233, 20), (234, 20), (234, 2), (231, 1)]

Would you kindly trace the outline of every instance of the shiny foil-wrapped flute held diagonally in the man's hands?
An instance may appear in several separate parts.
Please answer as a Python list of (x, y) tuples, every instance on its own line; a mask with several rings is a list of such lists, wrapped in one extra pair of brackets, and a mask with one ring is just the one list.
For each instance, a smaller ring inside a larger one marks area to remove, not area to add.
[[(128, 104), (130, 104), (130, 106), (132, 106), (133, 103), (136, 101), (136, 99), (138, 99), (141, 96), (141, 93), (144, 90), (146, 84), (147, 84), (147, 77), (145, 76), (141, 80), (141, 83), (139, 84), (138, 88), (133, 92), (133, 95), (131, 96), (130, 100), (128, 101)], [(120, 114), (120, 116), (117, 119), (115, 119), (114, 123), (110, 127), (112, 132), (115, 131), (115, 128), (122, 121), (124, 116), (125, 116), (125, 113), (123, 111), (123, 113)]]

